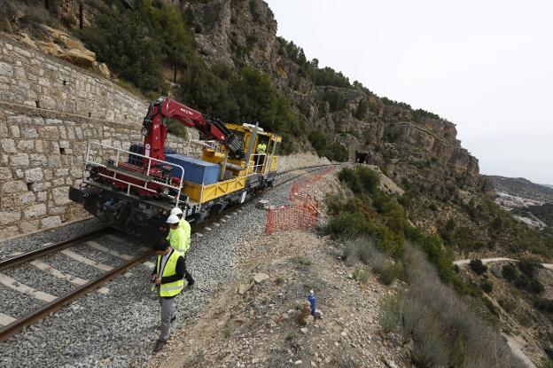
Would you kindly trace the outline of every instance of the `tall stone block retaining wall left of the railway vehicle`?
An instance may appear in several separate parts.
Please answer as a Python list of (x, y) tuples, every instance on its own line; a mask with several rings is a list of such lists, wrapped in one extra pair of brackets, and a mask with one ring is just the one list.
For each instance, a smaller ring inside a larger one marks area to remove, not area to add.
[(0, 239), (85, 216), (67, 192), (81, 183), (87, 145), (141, 142), (146, 110), (96, 74), (0, 38)]

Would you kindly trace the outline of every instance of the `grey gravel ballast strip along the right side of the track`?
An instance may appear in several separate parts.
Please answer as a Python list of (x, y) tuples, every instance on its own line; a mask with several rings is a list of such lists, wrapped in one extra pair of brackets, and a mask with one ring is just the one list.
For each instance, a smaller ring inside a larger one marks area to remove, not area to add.
[[(277, 183), (291, 176), (281, 176)], [(255, 206), (257, 200), (284, 204), (291, 184), (262, 194), (240, 207), (238, 215), (224, 218), (226, 222), (220, 221), (220, 226), (209, 225), (213, 230), (202, 230), (202, 237), (193, 237), (187, 266), (196, 285), (178, 297), (178, 320), (196, 316), (214, 292), (230, 281), (236, 245), (264, 231), (267, 215)], [(127, 238), (126, 243), (126, 247), (136, 247), (136, 240)], [(150, 292), (150, 273), (144, 265), (136, 266), (107, 283), (108, 294), (88, 294), (55, 317), (5, 341), (0, 345), (0, 366), (144, 366), (152, 355), (160, 323), (158, 301)]]

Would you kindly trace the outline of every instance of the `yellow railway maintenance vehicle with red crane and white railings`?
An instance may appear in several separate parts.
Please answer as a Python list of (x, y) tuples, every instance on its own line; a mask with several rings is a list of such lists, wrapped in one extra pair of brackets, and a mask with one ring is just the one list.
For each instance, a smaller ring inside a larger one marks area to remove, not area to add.
[[(198, 129), (199, 158), (166, 147), (167, 120)], [(91, 141), (80, 187), (69, 199), (110, 226), (157, 239), (167, 216), (180, 207), (190, 223), (201, 223), (225, 207), (245, 202), (273, 184), (282, 137), (255, 124), (211, 120), (170, 99), (153, 101), (142, 125), (143, 144), (129, 149)], [(256, 153), (265, 145), (265, 153)]]

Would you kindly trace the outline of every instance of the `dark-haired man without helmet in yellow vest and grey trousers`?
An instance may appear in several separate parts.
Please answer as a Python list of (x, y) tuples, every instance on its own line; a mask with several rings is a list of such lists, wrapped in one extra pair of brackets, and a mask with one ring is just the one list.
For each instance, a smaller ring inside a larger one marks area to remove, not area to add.
[(161, 332), (153, 351), (160, 351), (167, 343), (171, 324), (175, 322), (175, 296), (183, 291), (183, 278), (188, 272), (183, 254), (173, 249), (167, 240), (156, 242), (154, 251), (158, 257), (151, 281), (154, 284), (152, 289), (158, 292), (160, 299)]

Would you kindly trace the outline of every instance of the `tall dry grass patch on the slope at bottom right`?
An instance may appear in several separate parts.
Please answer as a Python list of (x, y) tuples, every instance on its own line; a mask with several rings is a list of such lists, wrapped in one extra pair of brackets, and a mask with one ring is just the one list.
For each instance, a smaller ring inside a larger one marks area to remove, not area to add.
[(441, 283), (424, 254), (408, 247), (409, 290), (396, 301), (386, 301), (380, 316), (385, 331), (401, 330), (415, 343), (417, 367), (520, 366), (502, 337), (486, 325), (449, 286)]

